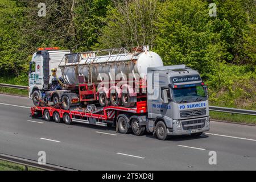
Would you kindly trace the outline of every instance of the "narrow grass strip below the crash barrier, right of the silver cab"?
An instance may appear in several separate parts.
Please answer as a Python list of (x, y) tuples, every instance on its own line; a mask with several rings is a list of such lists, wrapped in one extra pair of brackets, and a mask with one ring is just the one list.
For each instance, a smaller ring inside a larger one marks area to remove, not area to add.
[(237, 123), (247, 123), (256, 125), (256, 117), (254, 115), (232, 114), (210, 111), (210, 118), (221, 121), (230, 121)]

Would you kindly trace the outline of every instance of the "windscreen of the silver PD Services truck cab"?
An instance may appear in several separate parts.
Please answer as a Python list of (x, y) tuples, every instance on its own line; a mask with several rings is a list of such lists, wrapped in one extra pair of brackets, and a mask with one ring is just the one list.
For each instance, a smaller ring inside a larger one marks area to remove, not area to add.
[(207, 100), (207, 94), (205, 93), (203, 86), (191, 86), (171, 90), (173, 100), (178, 103)]

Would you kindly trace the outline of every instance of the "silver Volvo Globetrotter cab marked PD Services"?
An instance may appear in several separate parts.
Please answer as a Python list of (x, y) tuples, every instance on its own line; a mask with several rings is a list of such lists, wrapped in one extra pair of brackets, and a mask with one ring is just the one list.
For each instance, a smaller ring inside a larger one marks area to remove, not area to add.
[(147, 76), (148, 129), (158, 138), (209, 131), (208, 91), (197, 71), (174, 65), (148, 68)]

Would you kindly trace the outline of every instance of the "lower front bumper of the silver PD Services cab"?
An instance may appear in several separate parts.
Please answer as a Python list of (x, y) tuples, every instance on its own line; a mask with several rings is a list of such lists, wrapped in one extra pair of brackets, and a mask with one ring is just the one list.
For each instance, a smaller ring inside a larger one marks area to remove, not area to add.
[(167, 129), (167, 135), (187, 135), (210, 130), (210, 118), (195, 118), (187, 120), (174, 120), (172, 129)]

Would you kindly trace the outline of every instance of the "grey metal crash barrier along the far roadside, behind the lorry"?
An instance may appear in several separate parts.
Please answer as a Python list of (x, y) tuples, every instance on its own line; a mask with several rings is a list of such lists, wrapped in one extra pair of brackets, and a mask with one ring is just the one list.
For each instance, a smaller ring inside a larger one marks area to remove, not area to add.
[[(10, 85), (10, 84), (1, 84), (1, 83), (0, 83), (0, 87), (22, 89), (22, 90), (28, 90), (28, 88), (29, 88), (28, 86)], [(209, 110), (216, 111), (216, 112), (222, 112), (222, 113), (256, 115), (256, 110), (236, 109), (236, 108), (231, 108), (231, 107), (209, 106)]]

